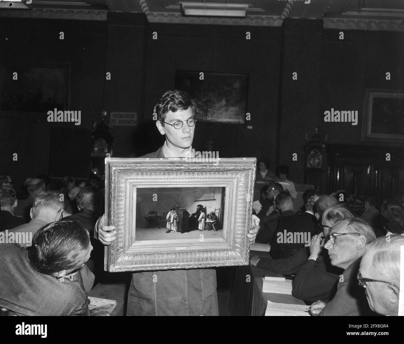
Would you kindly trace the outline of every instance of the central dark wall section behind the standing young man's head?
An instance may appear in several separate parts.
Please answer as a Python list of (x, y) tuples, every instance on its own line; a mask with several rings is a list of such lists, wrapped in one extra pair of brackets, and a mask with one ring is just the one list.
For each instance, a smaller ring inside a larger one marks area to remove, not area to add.
[[(246, 39), (249, 31), (251, 39)], [(157, 32), (158, 39), (152, 39)], [(174, 89), (175, 71), (249, 74), (246, 125), (198, 122), (193, 147), (204, 149), (211, 137), (225, 157), (267, 156), (274, 164), (280, 28), (213, 25), (152, 24), (147, 35), (147, 71), (144, 121), (151, 131), (152, 150), (164, 142), (151, 123), (153, 107), (164, 91)], [(252, 129), (247, 129), (251, 125)], [(142, 153), (149, 153), (143, 151)]]

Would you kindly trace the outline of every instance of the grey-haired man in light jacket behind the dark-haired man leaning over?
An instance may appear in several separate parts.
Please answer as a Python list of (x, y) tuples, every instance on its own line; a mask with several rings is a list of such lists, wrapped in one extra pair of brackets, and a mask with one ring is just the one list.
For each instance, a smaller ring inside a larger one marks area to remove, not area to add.
[[(34, 204), (31, 208), (32, 220), (25, 225), (11, 229), (8, 233), (25, 233), (25, 237), (33, 238), (41, 227), (61, 219), (63, 206), (64, 202), (60, 200), (59, 192), (41, 191), (35, 196)], [(19, 242), (18, 244), (23, 248), (31, 248), (31, 246), (29, 246), (31, 243), (29, 242)], [(84, 265), (80, 271), (83, 277), (84, 287), (86, 291), (90, 291), (94, 284), (94, 275), (88, 270), (87, 265)]]

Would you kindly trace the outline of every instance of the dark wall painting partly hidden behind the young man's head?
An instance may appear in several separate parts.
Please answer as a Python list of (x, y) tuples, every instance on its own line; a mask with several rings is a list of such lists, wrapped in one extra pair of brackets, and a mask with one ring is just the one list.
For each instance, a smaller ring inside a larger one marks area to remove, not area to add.
[(178, 70), (175, 88), (196, 100), (198, 121), (245, 124), (248, 74), (208, 73)]

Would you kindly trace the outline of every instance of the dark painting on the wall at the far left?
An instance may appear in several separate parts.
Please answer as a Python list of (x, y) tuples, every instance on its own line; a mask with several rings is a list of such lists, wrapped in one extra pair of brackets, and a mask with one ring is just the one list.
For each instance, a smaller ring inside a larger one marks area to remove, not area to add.
[(6, 66), (0, 72), (0, 110), (45, 112), (69, 109), (70, 68), (63, 65)]

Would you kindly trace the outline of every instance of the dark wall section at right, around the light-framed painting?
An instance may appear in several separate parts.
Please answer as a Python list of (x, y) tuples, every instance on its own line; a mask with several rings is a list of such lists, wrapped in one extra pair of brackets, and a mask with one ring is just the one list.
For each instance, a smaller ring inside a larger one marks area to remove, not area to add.
[[(404, 90), (404, 33), (344, 30), (324, 30), (321, 109), (321, 132), (328, 134), (330, 143), (375, 144), (362, 142), (364, 97), (366, 89)], [(386, 80), (386, 72), (391, 80)], [(358, 125), (325, 123), (324, 111), (358, 110)], [(383, 142), (383, 145), (397, 145)]]

